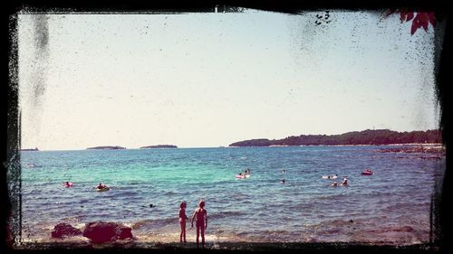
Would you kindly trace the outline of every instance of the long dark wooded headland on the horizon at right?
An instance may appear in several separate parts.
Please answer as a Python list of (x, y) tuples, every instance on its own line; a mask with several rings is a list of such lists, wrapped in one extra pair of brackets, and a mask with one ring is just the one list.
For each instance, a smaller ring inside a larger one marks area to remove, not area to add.
[(239, 141), (229, 146), (342, 146), (442, 143), (440, 130), (398, 132), (390, 129), (367, 129), (340, 135), (301, 135), (283, 139), (266, 138)]

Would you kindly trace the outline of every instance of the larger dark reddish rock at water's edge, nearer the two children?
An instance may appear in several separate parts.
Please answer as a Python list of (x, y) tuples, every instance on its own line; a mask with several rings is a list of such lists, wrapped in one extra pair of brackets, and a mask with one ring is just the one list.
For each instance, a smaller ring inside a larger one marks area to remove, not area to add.
[(115, 222), (89, 222), (83, 230), (83, 236), (92, 240), (93, 243), (106, 241), (133, 239), (130, 227)]

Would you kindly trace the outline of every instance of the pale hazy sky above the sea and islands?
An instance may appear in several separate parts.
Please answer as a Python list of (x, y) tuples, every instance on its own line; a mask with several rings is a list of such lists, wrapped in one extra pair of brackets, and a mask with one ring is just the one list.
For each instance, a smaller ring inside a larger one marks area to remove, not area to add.
[(22, 148), (439, 128), (434, 31), (399, 15), (18, 15)]

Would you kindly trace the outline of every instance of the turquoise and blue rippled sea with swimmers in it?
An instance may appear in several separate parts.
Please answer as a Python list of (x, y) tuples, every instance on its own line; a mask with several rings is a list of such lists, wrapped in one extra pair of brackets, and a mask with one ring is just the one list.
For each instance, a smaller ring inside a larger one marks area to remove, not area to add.
[[(23, 151), (22, 240), (49, 241), (61, 222), (114, 221), (137, 241), (178, 242), (180, 202), (190, 218), (203, 199), (211, 242), (428, 243), (445, 157), (377, 152), (391, 147)], [(246, 168), (251, 176), (236, 179)], [(348, 186), (331, 186), (344, 177)]]

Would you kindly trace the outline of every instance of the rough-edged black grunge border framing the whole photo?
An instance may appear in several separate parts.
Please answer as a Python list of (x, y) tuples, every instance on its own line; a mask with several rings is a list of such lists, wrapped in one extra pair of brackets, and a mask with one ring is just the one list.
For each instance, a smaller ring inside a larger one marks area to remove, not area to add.
[[(148, 2), (148, 1), (147, 1)], [(388, 2), (389, 3), (389, 2)], [(11, 212), (15, 209), (19, 209), (20, 211), (20, 167), (19, 167), (19, 153), (18, 148), (20, 146), (20, 115), (19, 115), (19, 108), (17, 108), (18, 103), (18, 91), (17, 91), (17, 79), (15, 74), (17, 73), (17, 48), (14, 41), (14, 35), (16, 32), (16, 20), (12, 18), (18, 10), (22, 9), (24, 6), (31, 7), (37, 11), (46, 12), (49, 8), (53, 10), (58, 9), (72, 9), (75, 11), (85, 11), (85, 12), (142, 12), (142, 11), (162, 11), (162, 12), (213, 12), (214, 7), (217, 5), (223, 11), (237, 11), (239, 7), (246, 7), (246, 8), (254, 8), (257, 10), (264, 10), (270, 12), (278, 12), (284, 14), (297, 14), (304, 10), (313, 10), (313, 9), (323, 9), (323, 8), (342, 8), (342, 9), (352, 9), (352, 10), (376, 10), (376, 9), (385, 9), (385, 8), (397, 8), (400, 6), (410, 6), (414, 9), (429, 9), (436, 11), (437, 18), (445, 20), (445, 30), (443, 33), (439, 33), (437, 31), (435, 33), (436, 37), (436, 65), (435, 65), (435, 77), (436, 77), (436, 91), (437, 91), (437, 99), (440, 105), (440, 123), (439, 128), (442, 130), (442, 139), (443, 143), (446, 146), (446, 154), (447, 154), (447, 161), (446, 161), (446, 172), (443, 178), (442, 183), (439, 183), (441, 186), (441, 192), (436, 193), (433, 196), (433, 206), (434, 210), (431, 212), (431, 217), (433, 217), (432, 222), (432, 231), (439, 236), (439, 242), (436, 243), (440, 247), (439, 251), (443, 253), (451, 253), (451, 243), (448, 240), (451, 239), (451, 229), (448, 228), (447, 225), (451, 225), (451, 218), (449, 217), (452, 212), (451, 208), (448, 205), (448, 201), (451, 200), (451, 186), (448, 182), (451, 180), (451, 175), (449, 173), (450, 167), (450, 160), (451, 160), (451, 148), (449, 147), (451, 144), (451, 136), (449, 135), (451, 125), (449, 124), (450, 120), (450, 108), (451, 108), (451, 101), (448, 100), (448, 96), (451, 95), (451, 89), (448, 86), (451, 84), (451, 73), (449, 73), (451, 66), (451, 49), (449, 49), (451, 44), (451, 24), (448, 22), (448, 7), (447, 4), (439, 4), (440, 1), (392, 1), (391, 4), (358, 4), (357, 1), (342, 1), (341, 3), (335, 2), (319, 2), (319, 1), (305, 1), (304, 4), (294, 4), (291, 1), (279, 1), (278, 4), (276, 1), (247, 1), (247, 2), (240, 2), (240, 1), (201, 1), (197, 4), (188, 4), (188, 3), (181, 3), (177, 1), (169, 1), (164, 4), (163, 1), (159, 1), (158, 3), (143, 3), (140, 4), (135, 2), (128, 1), (127, 4), (120, 3), (120, 1), (111, 1), (109, 5), (103, 3), (89, 3), (87, 1), (22, 1), (20, 3), (14, 2), (14, 4), (10, 4), (7, 11), (4, 12), (4, 42), (7, 43), (7, 47), (5, 47), (6, 53), (4, 57), (5, 65), (8, 66), (8, 69), (5, 73), (5, 85), (2, 86), (2, 94), (3, 98), (2, 101), (2, 113), (3, 113), (3, 120), (4, 123), (2, 125), (2, 132), (4, 135), (2, 136), (2, 171), (0, 174), (1, 179), (1, 188), (2, 188), (2, 198), (3, 198), (3, 209), (1, 209), (1, 225), (0, 227), (2, 230), (0, 231), (0, 237), (2, 238), (1, 248), (6, 250), (13, 250), (11, 248), (11, 244), (14, 242), (14, 237), (20, 239), (20, 212), (17, 213), (19, 218), (11, 218)], [(443, 42), (439, 40), (439, 38), (444, 37)], [(13, 174), (8, 174), (6, 169), (13, 168)], [(13, 199), (9, 199), (9, 193), (14, 193), (11, 195)], [(13, 220), (10, 220), (13, 219)], [(18, 231), (18, 235), (10, 234), (11, 230)], [(304, 252), (307, 250), (309, 252), (358, 252), (361, 253), (363, 250), (366, 252), (407, 252), (413, 251), (415, 252), (427, 252), (426, 250), (420, 249), (385, 249), (385, 248), (363, 248), (357, 246), (349, 246), (345, 249), (335, 249), (332, 246), (317, 246), (313, 249), (306, 246)], [(47, 249), (51, 251), (55, 251), (56, 253), (61, 252), (62, 249)], [(112, 252), (125, 252), (130, 251), (131, 249), (106, 249), (106, 253)], [(145, 249), (133, 249), (134, 252), (149, 252), (149, 250)], [(271, 250), (271, 249), (269, 249)], [(275, 250), (275, 249), (274, 249)], [(276, 249), (278, 251), (278, 249)], [(282, 250), (282, 249), (280, 249)], [(298, 249), (302, 250), (302, 249)], [(28, 251), (28, 250), (27, 250)], [(87, 250), (87, 249), (65, 249), (65, 251), (69, 252), (99, 252), (94, 250)], [(287, 252), (286, 250), (284, 250)], [(296, 250), (290, 250), (289, 252), (294, 252)], [(429, 249), (429, 251), (439, 252), (433, 249)], [(21, 250), (20, 252), (24, 252)], [(25, 251), (26, 252), (26, 251)], [(48, 252), (48, 251), (46, 251)], [(153, 249), (152, 252), (175, 252), (175, 249), (162, 249), (157, 250)], [(184, 251), (183, 251), (184, 252)], [(203, 251), (205, 252), (205, 251)], [(230, 251), (216, 251), (216, 252), (230, 252)], [(236, 251), (234, 251), (236, 252)], [(256, 251), (245, 251), (245, 252), (256, 252)]]

